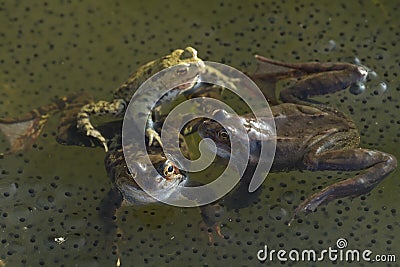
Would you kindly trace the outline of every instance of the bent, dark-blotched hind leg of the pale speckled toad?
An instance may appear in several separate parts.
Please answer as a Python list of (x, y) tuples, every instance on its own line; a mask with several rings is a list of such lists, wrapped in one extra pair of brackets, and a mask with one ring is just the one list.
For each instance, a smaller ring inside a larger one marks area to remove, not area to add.
[(90, 122), (90, 115), (104, 115), (112, 114), (119, 115), (126, 108), (126, 102), (123, 99), (115, 99), (113, 102), (98, 101), (83, 106), (77, 115), (77, 127), (83, 131), (87, 136), (91, 136), (99, 140), (105, 151), (108, 151), (107, 141), (104, 136), (94, 128)]

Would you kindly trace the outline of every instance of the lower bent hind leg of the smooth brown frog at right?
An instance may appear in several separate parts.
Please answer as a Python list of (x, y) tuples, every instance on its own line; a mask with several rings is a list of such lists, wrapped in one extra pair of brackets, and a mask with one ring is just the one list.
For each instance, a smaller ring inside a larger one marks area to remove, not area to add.
[(335, 199), (370, 192), (397, 167), (397, 160), (394, 156), (381, 151), (349, 148), (309, 155), (306, 166), (312, 170), (363, 170), (363, 172), (313, 194), (298, 206), (294, 216), (302, 211), (312, 212), (319, 205)]

